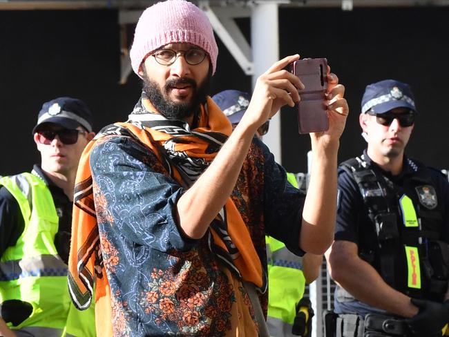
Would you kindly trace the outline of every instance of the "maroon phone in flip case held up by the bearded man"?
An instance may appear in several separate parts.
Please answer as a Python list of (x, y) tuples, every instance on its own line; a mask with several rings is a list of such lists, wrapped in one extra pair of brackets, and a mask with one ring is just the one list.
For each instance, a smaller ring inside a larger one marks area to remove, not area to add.
[(326, 131), (329, 117), (325, 104), (327, 90), (327, 59), (300, 59), (292, 64), (292, 73), (303, 82), (304, 90), (298, 90), (299, 133)]

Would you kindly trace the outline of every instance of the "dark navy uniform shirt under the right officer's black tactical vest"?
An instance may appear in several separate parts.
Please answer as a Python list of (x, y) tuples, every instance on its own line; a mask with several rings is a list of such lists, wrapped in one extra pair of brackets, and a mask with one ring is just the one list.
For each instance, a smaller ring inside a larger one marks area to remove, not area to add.
[[(399, 175), (392, 175), (390, 172), (383, 171), (379, 165), (370, 160), (366, 151), (363, 152), (363, 157), (367, 164), (370, 165), (370, 168), (382, 173), (394, 184), (399, 186), (402, 186), (405, 178), (414, 175), (415, 172), (406, 157), (404, 157), (403, 170)], [(449, 183), (440, 171), (434, 168), (429, 168), (429, 171), (434, 189), (437, 193), (439, 206), (443, 209), (443, 224), (441, 227), (443, 233), (441, 233), (441, 240), (449, 243)], [(377, 245), (374, 224), (368, 217), (359, 185), (354, 181), (352, 176), (344, 171), (339, 171), (338, 174), (338, 204), (334, 240), (354, 242), (359, 247), (359, 253), (363, 252), (361, 258), (367, 261), (372, 259), (370, 251), (374, 254), (374, 251), (370, 248), (373, 247), (374, 249)], [(364, 254), (365, 256), (363, 256)], [(334, 299), (335, 311), (337, 313), (355, 311), (358, 314), (365, 315), (368, 312), (379, 312), (379, 310), (359, 301), (348, 299), (348, 302), (339, 303), (337, 296)]]

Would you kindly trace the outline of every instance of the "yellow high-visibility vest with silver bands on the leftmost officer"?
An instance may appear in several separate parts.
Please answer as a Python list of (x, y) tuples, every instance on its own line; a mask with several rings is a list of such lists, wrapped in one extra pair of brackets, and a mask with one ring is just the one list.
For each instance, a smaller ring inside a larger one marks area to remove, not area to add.
[(32, 307), (28, 318), (8, 327), (26, 327), (37, 336), (95, 336), (93, 310), (76, 310), (68, 295), (68, 267), (54, 244), (59, 218), (48, 187), (31, 173), (2, 177), (0, 185), (17, 200), (25, 224), (0, 259), (0, 303), (21, 300)]

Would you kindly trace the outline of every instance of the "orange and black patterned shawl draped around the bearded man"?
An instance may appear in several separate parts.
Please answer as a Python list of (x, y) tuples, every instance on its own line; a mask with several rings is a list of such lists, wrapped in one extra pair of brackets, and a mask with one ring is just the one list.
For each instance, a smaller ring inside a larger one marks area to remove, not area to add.
[[(75, 182), (72, 241), (68, 262), (70, 296), (78, 309), (89, 307), (95, 293), (98, 336), (112, 336), (111, 293), (102, 260), (97, 227), (90, 152), (95, 140), (106, 135), (133, 137), (155, 153), (171, 176), (182, 186), (190, 186), (204, 171), (231, 133), (231, 124), (208, 97), (202, 106), (198, 128), (175, 123), (149, 113), (140, 101), (126, 123), (116, 123), (100, 132), (84, 149)], [(152, 107), (150, 107), (152, 108)], [(209, 248), (238, 278), (265, 291), (267, 280), (249, 231), (235, 204), (228, 198), (211, 223)]]

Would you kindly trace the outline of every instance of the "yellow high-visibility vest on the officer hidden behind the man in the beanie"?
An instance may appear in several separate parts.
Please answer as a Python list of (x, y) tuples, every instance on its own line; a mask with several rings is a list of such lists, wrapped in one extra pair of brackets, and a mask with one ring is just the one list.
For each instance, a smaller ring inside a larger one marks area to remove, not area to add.
[[(296, 177), (287, 173), (288, 181), (298, 187)], [(291, 253), (283, 242), (265, 237), (268, 260), (268, 313), (267, 326), (270, 336), (294, 336), (292, 327), (296, 305), (303, 298), (305, 278), (303, 259)]]

